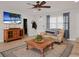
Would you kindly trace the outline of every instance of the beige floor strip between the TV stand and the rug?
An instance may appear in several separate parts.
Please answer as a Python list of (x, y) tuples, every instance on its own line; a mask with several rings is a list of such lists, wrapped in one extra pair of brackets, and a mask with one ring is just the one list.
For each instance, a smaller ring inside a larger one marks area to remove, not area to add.
[(0, 43), (0, 52), (17, 47), (17, 46), (21, 46), (23, 44), (25, 44), (25, 40), (30, 39), (31, 37), (24, 37), (20, 40), (15, 40), (15, 41), (11, 41), (11, 42), (7, 42), (7, 43)]

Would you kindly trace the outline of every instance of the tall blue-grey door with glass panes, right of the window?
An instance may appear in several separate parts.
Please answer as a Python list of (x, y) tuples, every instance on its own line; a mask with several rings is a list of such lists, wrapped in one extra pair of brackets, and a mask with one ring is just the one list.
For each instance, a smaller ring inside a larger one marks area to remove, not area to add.
[(69, 16), (69, 12), (68, 13), (64, 13), (63, 14), (63, 18), (64, 18), (64, 37), (65, 39), (69, 39), (70, 38), (70, 16)]

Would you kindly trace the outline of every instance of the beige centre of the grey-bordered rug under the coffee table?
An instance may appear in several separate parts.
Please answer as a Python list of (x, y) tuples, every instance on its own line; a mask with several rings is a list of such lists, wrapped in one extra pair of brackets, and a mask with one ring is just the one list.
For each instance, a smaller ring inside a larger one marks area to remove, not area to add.
[[(45, 57), (61, 57), (67, 48), (68, 44), (54, 44), (53, 49), (45, 50)], [(4, 57), (42, 57), (37, 49), (26, 50), (26, 45), (3, 51), (1, 54)]]

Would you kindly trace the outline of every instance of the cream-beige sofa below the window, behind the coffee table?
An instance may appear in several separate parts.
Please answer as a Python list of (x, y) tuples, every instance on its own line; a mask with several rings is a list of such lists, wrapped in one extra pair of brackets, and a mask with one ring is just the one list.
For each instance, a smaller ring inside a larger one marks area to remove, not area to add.
[(57, 35), (53, 35), (51, 33), (46, 33), (46, 32), (41, 32), (40, 35), (42, 35), (45, 38), (46, 37), (51, 38), (55, 42), (61, 43), (61, 42), (63, 42), (63, 39), (64, 39), (64, 30), (63, 29), (60, 29), (58, 31), (58, 34)]

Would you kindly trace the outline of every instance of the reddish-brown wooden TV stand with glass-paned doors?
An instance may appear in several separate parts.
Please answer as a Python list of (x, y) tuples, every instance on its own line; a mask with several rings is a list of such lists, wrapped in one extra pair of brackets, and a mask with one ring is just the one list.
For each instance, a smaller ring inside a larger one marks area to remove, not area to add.
[(4, 42), (13, 41), (23, 37), (23, 29), (10, 28), (4, 29)]

